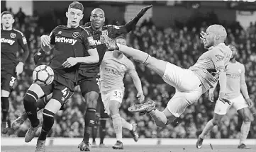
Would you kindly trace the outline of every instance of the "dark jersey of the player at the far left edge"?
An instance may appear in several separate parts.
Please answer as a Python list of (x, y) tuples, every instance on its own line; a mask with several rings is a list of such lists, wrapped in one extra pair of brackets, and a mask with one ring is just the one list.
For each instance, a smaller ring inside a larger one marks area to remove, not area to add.
[(16, 54), (20, 47), (24, 50), (26, 45), (26, 37), (21, 31), (1, 29), (1, 66), (18, 64)]

